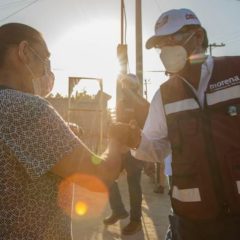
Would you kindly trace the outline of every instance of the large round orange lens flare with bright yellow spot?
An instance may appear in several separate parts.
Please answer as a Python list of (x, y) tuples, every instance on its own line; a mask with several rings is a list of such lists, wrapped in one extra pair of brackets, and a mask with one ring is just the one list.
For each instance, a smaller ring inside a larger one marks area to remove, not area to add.
[(96, 176), (75, 174), (59, 184), (58, 206), (72, 219), (91, 219), (102, 214), (108, 188)]

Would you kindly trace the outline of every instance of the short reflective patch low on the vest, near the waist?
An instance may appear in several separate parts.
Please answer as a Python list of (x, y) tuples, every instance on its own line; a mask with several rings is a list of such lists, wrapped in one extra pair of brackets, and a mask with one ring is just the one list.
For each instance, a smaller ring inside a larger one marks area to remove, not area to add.
[(178, 189), (173, 186), (172, 197), (181, 202), (201, 202), (199, 188)]

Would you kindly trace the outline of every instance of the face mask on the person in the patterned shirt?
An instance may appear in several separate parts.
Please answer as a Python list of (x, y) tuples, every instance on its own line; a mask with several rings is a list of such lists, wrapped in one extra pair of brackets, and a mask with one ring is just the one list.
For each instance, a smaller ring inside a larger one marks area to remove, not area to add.
[(33, 54), (38, 57), (38, 59), (44, 66), (43, 75), (40, 77), (36, 77), (31, 68), (26, 65), (27, 69), (32, 75), (33, 91), (35, 95), (46, 97), (52, 91), (55, 80), (54, 74), (51, 71), (50, 60), (46, 59), (44, 61), (33, 48), (30, 47), (30, 49)]

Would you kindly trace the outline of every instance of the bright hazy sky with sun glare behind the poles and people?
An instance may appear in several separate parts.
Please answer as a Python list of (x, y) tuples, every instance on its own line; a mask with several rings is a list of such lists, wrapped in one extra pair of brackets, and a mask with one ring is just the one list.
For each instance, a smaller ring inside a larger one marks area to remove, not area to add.
[[(125, 0), (130, 72), (135, 73), (135, 1)], [(115, 106), (119, 74), (117, 45), (120, 35), (120, 0), (1, 0), (0, 24), (21, 22), (39, 30), (51, 52), (56, 76), (53, 94), (67, 95), (68, 77), (103, 79), (103, 89)], [(224, 43), (212, 49), (213, 56), (240, 54), (239, 0), (142, 0), (143, 79), (151, 101), (166, 80), (156, 51), (145, 42), (154, 33), (160, 14), (172, 8), (189, 8), (208, 32), (209, 43)], [(94, 81), (79, 85), (90, 94), (98, 90)]]

